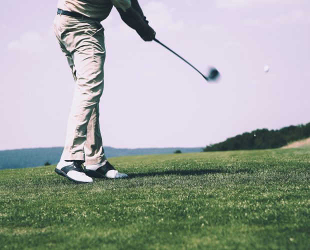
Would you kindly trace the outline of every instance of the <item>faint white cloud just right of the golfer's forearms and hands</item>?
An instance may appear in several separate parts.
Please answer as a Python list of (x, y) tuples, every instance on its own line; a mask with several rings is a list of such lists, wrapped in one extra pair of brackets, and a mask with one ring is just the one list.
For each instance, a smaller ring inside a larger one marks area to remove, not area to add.
[(179, 31), (183, 29), (183, 21), (174, 18), (173, 9), (162, 2), (149, 1), (143, 6), (143, 12), (149, 20), (150, 25), (153, 25), (156, 30)]

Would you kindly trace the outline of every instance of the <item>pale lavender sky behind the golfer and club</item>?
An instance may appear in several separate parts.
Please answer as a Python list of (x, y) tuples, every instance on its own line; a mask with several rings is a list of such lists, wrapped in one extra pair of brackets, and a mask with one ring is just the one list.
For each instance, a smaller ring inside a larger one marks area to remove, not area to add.
[[(221, 77), (207, 83), (113, 9), (102, 21), (103, 145), (204, 147), (310, 122), (309, 0), (139, 2), (158, 40)], [(74, 81), (52, 31), (56, 3), (0, 3), (0, 150), (64, 145)]]

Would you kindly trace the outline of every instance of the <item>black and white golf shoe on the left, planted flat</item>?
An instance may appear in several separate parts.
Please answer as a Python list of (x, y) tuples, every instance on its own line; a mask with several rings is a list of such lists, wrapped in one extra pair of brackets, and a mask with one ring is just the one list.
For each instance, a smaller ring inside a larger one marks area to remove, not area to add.
[(73, 182), (90, 183), (92, 182), (92, 178), (85, 174), (82, 164), (82, 160), (60, 160), (55, 168), (55, 172)]

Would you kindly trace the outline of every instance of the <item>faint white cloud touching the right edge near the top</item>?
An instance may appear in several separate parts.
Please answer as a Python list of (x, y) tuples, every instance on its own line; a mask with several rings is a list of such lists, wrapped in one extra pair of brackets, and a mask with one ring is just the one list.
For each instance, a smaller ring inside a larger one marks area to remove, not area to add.
[(294, 9), (287, 14), (277, 16), (272, 20), (273, 24), (309, 24), (310, 12)]

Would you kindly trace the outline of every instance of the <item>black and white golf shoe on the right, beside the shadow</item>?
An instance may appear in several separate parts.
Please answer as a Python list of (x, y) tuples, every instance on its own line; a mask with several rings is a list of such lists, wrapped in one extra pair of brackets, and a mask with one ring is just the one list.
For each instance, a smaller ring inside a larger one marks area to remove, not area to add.
[(87, 165), (85, 166), (85, 173), (94, 178), (125, 178), (128, 177), (125, 173), (120, 173), (108, 162)]

